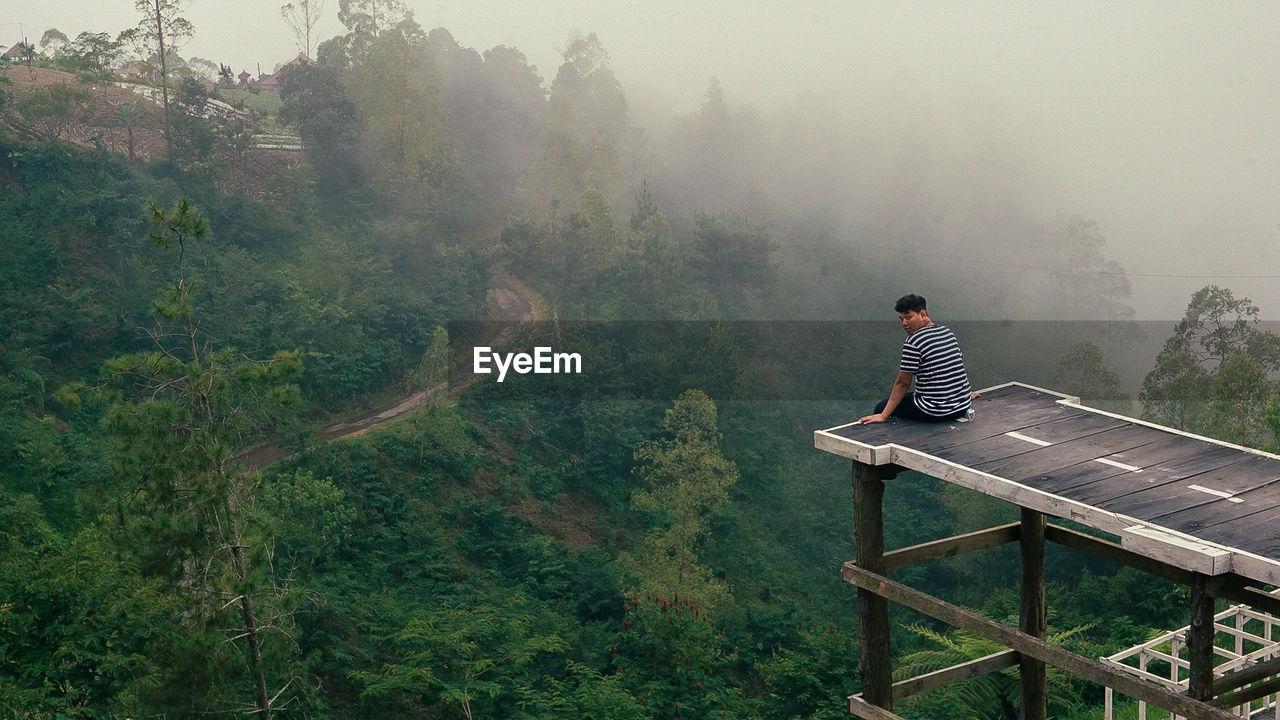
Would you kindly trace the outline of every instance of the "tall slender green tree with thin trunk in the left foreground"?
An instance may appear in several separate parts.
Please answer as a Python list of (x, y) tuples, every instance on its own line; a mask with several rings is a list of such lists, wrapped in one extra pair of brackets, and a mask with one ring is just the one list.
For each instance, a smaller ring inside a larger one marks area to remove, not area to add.
[[(255, 509), (256, 478), (237, 457), (271, 407), (296, 400), (289, 380), (301, 363), (296, 351), (255, 360), (206, 345), (188, 254), (207, 237), (207, 219), (186, 199), (169, 210), (152, 202), (148, 215), (151, 240), (177, 249), (175, 279), (152, 304), (152, 348), (108, 361), (102, 395), (106, 427), (120, 442), (115, 471), (127, 483), (115, 507), (123, 547), (183, 606), (174, 620), (183, 628), (177, 653), (191, 664), (175, 665), (175, 685), (161, 688), (157, 702), (201, 714), (248, 696), (268, 719), (282, 693), (289, 700), (302, 688), (285, 692), (298, 680), (285, 660), (289, 601), (268, 562), (271, 537)], [(223, 634), (234, 644), (207, 642)], [(239, 659), (227, 655), (236, 646)], [(233, 667), (244, 673), (238, 687), (225, 682), (239, 675)], [(204, 684), (201, 676), (224, 682)]]

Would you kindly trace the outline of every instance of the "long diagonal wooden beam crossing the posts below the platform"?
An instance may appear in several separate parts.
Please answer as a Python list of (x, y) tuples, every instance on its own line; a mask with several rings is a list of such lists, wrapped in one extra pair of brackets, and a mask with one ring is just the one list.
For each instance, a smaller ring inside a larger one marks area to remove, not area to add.
[(891, 580), (884, 575), (859, 568), (856, 564), (845, 564), (841, 574), (845, 582), (852, 583), (859, 588), (873, 591), (893, 602), (905, 605), (952, 626), (1002, 643), (1023, 655), (1029, 655), (1055, 667), (1061, 667), (1078, 678), (1114, 688), (1134, 700), (1176, 712), (1190, 720), (1239, 720), (1230, 712), (1153, 683), (1139, 680), (1123, 670), (1108, 667), (1096, 660), (1089, 660), (1039, 638), (1033, 638), (995, 620), (988, 620), (977, 612), (970, 612), (969, 610), (906, 587), (902, 583)]

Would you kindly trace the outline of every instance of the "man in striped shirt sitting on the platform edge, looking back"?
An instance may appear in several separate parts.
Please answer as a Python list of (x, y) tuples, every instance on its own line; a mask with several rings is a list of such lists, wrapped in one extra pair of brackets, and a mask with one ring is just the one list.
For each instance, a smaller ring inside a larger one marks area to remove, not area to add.
[[(906, 331), (902, 359), (888, 400), (876, 406), (873, 415), (859, 423), (883, 423), (890, 416), (941, 423), (969, 414), (969, 375), (955, 333), (929, 319), (924, 297), (904, 295), (893, 304)], [(911, 380), (915, 379), (915, 392)]]

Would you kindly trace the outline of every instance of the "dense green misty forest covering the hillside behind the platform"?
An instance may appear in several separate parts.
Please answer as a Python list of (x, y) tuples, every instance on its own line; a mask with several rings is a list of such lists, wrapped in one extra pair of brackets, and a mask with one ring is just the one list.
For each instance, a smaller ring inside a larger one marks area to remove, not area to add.
[[(0, 715), (846, 717), (849, 465), (813, 430), (888, 391), (905, 292), (977, 388), (1280, 443), (1262, 310), (1207, 284), (1134, 322), (1085, 217), (954, 220), (1069, 268), (957, 274), (909, 178), (823, 211), (805, 124), (714, 78), (699, 110), (640, 118), (595, 35), (544, 78), (398, 0), (339, 5), (347, 32), (278, 90), (201, 79), (166, 0), (0, 65)], [(585, 372), (462, 378), (511, 320), (498, 291), (530, 307), (507, 347)], [(900, 547), (1018, 510), (908, 473), (886, 514)], [(1055, 643), (1185, 624), (1187, 588), (1052, 550)], [(1012, 548), (896, 577), (1016, 624)], [(996, 650), (892, 620), (906, 674)], [(1098, 716), (1101, 688), (1050, 685), (1051, 716)], [(1011, 719), (1018, 697), (1009, 670), (896, 711)]]

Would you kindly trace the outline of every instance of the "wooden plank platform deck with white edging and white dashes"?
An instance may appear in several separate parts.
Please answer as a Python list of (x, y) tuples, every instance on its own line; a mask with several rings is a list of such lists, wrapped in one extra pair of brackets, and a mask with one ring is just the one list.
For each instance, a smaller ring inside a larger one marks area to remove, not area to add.
[(968, 423), (845, 424), (819, 450), (899, 465), (1120, 537), (1164, 562), (1280, 584), (1280, 457), (1019, 383)]

